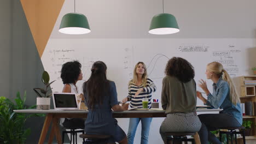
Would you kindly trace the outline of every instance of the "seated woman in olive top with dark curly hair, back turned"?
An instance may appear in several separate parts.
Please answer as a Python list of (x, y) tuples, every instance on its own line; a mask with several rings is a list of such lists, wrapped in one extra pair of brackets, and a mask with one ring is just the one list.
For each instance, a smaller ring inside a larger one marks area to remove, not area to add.
[(181, 57), (171, 58), (162, 80), (161, 103), (167, 114), (160, 127), (162, 140), (165, 133), (199, 131), (201, 122), (196, 115), (196, 83), (194, 67)]

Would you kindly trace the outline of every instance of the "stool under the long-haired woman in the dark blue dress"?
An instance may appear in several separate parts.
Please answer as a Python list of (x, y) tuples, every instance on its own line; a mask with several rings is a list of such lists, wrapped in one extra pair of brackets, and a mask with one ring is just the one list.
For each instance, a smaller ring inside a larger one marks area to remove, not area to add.
[(108, 139), (111, 137), (110, 135), (88, 135), (82, 134), (79, 137), (86, 139), (86, 144), (106, 144), (108, 143)]

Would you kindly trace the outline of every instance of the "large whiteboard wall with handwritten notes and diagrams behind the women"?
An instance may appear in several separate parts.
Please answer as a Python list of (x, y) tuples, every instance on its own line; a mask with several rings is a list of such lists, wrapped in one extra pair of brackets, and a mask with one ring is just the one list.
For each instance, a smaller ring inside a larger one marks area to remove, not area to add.
[[(53, 92), (61, 92), (63, 84), (60, 78), (61, 65), (78, 60), (82, 64), (83, 80), (77, 83), (80, 92), (82, 83), (90, 77), (91, 65), (96, 61), (106, 63), (107, 78), (115, 82), (118, 100), (127, 96), (127, 86), (132, 79), (135, 64), (142, 61), (147, 66), (148, 77), (157, 86), (153, 99), (161, 99), (161, 83), (169, 58), (174, 56), (187, 59), (195, 69), (195, 81), (206, 80), (206, 65), (218, 61), (224, 65), (233, 77), (237, 89), (240, 89), (239, 76), (252, 75), (251, 68), (256, 66), (255, 39), (50, 39), (42, 55), (44, 69), (50, 79), (56, 80), (51, 87)], [(212, 91), (212, 81), (207, 80)], [(197, 87), (199, 91), (201, 89)], [(197, 100), (197, 105), (202, 105)], [(159, 127), (163, 118), (154, 118), (152, 125), (159, 139), (150, 137), (150, 143), (161, 140)], [(119, 119), (121, 127), (127, 132), (128, 120)], [(140, 135), (140, 126), (138, 127)], [(139, 136), (136, 137), (139, 143)]]

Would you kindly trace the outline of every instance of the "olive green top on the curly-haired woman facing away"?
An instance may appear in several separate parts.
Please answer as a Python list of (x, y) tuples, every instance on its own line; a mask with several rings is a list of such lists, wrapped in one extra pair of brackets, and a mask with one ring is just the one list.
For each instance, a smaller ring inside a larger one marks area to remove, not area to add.
[(196, 83), (194, 79), (183, 83), (174, 76), (162, 80), (162, 109), (165, 113), (190, 113), (196, 110)]

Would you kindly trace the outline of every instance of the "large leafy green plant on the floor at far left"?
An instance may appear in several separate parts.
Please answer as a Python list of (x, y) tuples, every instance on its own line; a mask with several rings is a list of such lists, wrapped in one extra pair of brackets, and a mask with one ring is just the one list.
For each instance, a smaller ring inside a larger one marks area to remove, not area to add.
[(42, 113), (33, 113), (27, 115), (26, 113), (15, 113), (13, 110), (34, 109), (36, 105), (27, 107), (25, 105), (26, 91), (23, 99), (20, 92), (16, 94), (15, 103), (8, 98), (0, 97), (0, 143), (26, 143), (28, 135), (30, 135), (30, 128), (25, 127), (26, 119), (30, 117), (43, 117)]

